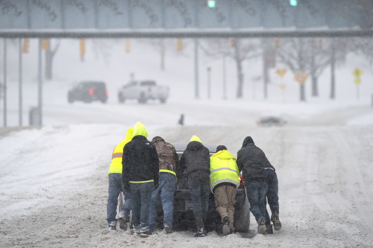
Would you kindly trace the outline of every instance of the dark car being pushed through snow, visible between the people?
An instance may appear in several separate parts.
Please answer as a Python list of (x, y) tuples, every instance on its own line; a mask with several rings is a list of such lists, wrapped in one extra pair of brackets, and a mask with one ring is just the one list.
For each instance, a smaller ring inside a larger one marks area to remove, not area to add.
[[(175, 147), (179, 159), (185, 151), (188, 143), (172, 143)], [(214, 145), (204, 145), (210, 151), (212, 156), (216, 151)], [(245, 187), (242, 176), (240, 176), (240, 186), (236, 190), (236, 204), (234, 205), (234, 229), (240, 233), (247, 233), (250, 227), (250, 204), (246, 197)], [(131, 219), (131, 218), (130, 218)], [(207, 215), (206, 230), (211, 232), (215, 230), (217, 233), (221, 232), (221, 218), (216, 211), (214, 195), (210, 192), (209, 210)], [(192, 198), (189, 192), (188, 181), (185, 177), (185, 171), (181, 178), (177, 178), (176, 190), (173, 199), (173, 228), (175, 230), (188, 230), (189, 228), (197, 230), (192, 207)], [(132, 221), (130, 220), (130, 228), (132, 229)], [(163, 209), (158, 200), (157, 207), (157, 228), (163, 229)]]

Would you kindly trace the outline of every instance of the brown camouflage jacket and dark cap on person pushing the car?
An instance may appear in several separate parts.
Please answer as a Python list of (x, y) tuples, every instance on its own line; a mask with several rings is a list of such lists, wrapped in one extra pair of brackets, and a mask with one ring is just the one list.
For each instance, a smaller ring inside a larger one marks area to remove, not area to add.
[(158, 158), (160, 160), (160, 170), (176, 172), (179, 155), (177, 155), (175, 147), (165, 142), (161, 137), (154, 137), (152, 143), (157, 149)]

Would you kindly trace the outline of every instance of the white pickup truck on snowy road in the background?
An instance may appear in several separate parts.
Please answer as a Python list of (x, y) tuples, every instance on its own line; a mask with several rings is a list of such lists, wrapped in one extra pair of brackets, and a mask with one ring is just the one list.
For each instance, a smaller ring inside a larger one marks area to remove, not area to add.
[(165, 103), (168, 92), (168, 86), (157, 86), (155, 81), (131, 81), (119, 89), (118, 100), (123, 103), (126, 99), (137, 99), (139, 103), (146, 103), (149, 99), (160, 99)]

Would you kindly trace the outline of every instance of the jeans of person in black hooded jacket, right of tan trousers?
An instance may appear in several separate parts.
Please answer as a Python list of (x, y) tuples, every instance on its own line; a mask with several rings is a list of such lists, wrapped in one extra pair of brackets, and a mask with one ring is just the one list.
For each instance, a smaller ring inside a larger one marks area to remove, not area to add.
[(250, 203), (250, 211), (255, 216), (255, 219), (266, 217), (266, 196), (267, 196), (267, 183), (248, 183), (245, 185), (247, 198)]

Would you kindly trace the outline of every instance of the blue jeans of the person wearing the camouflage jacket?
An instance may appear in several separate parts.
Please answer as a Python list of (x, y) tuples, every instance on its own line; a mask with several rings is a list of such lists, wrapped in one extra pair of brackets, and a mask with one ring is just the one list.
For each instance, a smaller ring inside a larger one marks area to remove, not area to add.
[(152, 193), (152, 201), (150, 202), (149, 212), (149, 230), (156, 231), (157, 227), (157, 206), (158, 198), (163, 208), (163, 226), (169, 225), (172, 228), (172, 214), (173, 214), (173, 195), (176, 189), (176, 177), (172, 174), (160, 173), (160, 186)]

